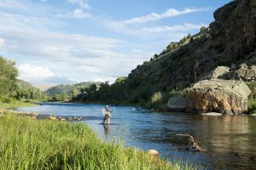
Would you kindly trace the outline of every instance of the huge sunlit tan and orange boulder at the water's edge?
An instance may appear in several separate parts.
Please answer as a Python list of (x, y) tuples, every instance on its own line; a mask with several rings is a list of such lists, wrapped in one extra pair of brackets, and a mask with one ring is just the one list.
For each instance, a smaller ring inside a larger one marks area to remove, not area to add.
[(247, 113), (249, 94), (251, 90), (241, 81), (205, 80), (197, 82), (188, 91), (186, 111), (244, 114)]

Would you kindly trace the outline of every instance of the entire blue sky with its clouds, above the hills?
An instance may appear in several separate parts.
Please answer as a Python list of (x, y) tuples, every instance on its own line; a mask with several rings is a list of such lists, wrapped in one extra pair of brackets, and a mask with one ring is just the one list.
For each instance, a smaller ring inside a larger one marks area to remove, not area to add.
[(1, 0), (0, 54), (33, 84), (113, 82), (229, 2)]

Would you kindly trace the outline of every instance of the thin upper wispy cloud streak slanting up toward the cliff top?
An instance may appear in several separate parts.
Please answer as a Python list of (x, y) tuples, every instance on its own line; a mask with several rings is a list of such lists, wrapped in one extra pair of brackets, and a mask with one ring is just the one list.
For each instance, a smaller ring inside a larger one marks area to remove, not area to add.
[(189, 14), (189, 13), (201, 12), (205, 10), (207, 9), (206, 8), (184, 8), (183, 10), (179, 11), (175, 8), (168, 8), (166, 12), (161, 14), (151, 13), (144, 16), (135, 17), (130, 20), (119, 21), (119, 25), (126, 26), (126, 25), (134, 25), (134, 24), (143, 24), (149, 21), (162, 20), (165, 18), (170, 18), (177, 15), (181, 15), (181, 14)]

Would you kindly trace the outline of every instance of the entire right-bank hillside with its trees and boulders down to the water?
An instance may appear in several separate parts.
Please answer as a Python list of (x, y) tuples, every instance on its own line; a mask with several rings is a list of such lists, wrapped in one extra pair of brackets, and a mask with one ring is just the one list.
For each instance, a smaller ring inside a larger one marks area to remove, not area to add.
[(256, 111), (252, 97), (256, 95), (256, 1), (232, 1), (213, 15), (208, 28), (171, 42), (128, 77), (82, 93), (79, 101), (132, 103), (160, 110), (166, 110), (168, 103), (169, 111), (221, 114), (247, 113), (249, 105), (249, 112)]

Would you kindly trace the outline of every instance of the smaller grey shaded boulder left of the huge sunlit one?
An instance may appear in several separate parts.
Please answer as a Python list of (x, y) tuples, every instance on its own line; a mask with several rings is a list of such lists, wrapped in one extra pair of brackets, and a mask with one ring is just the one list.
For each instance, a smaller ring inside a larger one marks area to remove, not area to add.
[(186, 98), (182, 95), (173, 96), (168, 100), (167, 111), (186, 111)]

